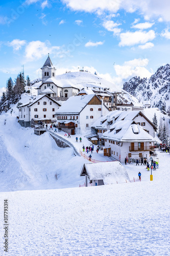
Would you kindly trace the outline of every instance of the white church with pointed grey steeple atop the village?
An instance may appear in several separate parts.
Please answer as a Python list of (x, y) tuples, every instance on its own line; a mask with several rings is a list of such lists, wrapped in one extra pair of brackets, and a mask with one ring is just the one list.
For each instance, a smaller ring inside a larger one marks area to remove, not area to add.
[(41, 70), (42, 83), (37, 88), (38, 95), (46, 94), (57, 100), (58, 97), (69, 98), (71, 96), (76, 96), (79, 93), (80, 90), (75, 84), (64, 83), (62, 80), (56, 79), (56, 69), (53, 66), (49, 54)]

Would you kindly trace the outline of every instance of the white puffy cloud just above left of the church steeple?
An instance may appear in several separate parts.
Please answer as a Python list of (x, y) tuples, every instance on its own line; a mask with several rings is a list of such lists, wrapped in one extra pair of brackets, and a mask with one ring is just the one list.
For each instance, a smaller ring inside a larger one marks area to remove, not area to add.
[(50, 54), (58, 54), (61, 48), (59, 46), (51, 46), (49, 41), (31, 41), (26, 46), (26, 61), (33, 61)]

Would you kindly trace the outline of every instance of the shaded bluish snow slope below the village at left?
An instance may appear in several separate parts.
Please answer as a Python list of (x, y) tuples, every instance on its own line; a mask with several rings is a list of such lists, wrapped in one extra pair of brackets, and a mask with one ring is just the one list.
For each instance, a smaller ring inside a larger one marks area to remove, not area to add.
[(72, 148), (58, 147), (48, 133), (37, 136), (33, 129), (21, 127), (9, 113), (0, 116), (0, 152), (0, 191), (78, 187), (82, 183), (83, 158), (75, 157)]

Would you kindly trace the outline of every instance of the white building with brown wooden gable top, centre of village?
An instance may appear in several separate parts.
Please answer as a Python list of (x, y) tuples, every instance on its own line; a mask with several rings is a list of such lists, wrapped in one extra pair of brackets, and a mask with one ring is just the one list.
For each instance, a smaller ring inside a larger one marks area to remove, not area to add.
[(70, 134), (86, 132), (93, 122), (108, 113), (108, 109), (95, 94), (70, 97), (56, 111), (57, 124)]

